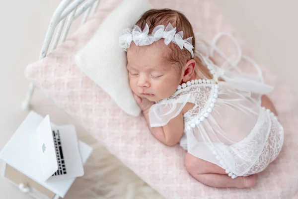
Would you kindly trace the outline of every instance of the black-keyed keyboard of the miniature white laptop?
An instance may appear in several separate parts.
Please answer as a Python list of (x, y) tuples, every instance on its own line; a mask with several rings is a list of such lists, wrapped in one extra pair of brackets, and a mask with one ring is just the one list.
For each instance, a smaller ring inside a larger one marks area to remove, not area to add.
[(56, 157), (58, 162), (58, 170), (53, 174), (53, 176), (65, 175), (67, 174), (64, 155), (61, 146), (60, 133), (59, 130), (53, 130), (54, 144), (56, 149)]

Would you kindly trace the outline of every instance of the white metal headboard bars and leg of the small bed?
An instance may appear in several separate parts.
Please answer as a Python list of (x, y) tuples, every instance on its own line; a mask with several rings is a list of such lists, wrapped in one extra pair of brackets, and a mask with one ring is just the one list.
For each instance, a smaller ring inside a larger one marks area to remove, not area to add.
[[(100, 0), (62, 0), (51, 18), (39, 54), (39, 59), (44, 58), (65, 41), (73, 21), (83, 13), (84, 16), (81, 20), (81, 24), (85, 23), (88, 17), (93, 15), (97, 10), (99, 1)], [(54, 37), (55, 30), (56, 35)], [(23, 109), (29, 109), (34, 90), (34, 85), (30, 83), (26, 99), (22, 103)]]

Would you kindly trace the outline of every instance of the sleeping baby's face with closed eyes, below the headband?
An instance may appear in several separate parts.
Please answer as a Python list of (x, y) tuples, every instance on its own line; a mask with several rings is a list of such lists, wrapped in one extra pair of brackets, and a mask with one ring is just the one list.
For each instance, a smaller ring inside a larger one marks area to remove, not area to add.
[(149, 101), (172, 96), (181, 83), (182, 75), (166, 61), (167, 46), (154, 42), (149, 46), (136, 46), (127, 50), (127, 70), (132, 91)]

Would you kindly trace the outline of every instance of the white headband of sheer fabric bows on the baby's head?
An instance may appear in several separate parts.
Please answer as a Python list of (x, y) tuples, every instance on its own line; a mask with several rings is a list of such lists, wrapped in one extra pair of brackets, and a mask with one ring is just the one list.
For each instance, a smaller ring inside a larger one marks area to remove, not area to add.
[(151, 34), (148, 33), (149, 26), (147, 23), (143, 31), (137, 25), (134, 25), (133, 28), (126, 28), (123, 30), (123, 35), (119, 38), (120, 46), (126, 51), (132, 41), (134, 41), (137, 46), (147, 46), (163, 38), (166, 45), (173, 42), (177, 44), (181, 50), (186, 48), (190, 52), (191, 58), (194, 58), (192, 37), (183, 39), (183, 31), (176, 33), (176, 27), (173, 27), (171, 23), (169, 23), (165, 29), (164, 25), (157, 25)]

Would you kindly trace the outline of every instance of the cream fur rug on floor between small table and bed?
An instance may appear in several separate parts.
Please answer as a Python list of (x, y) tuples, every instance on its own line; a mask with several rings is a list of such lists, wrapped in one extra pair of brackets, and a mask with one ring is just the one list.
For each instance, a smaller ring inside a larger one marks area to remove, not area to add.
[(90, 137), (82, 139), (93, 148), (84, 166), (85, 175), (75, 180), (65, 199), (163, 199)]

